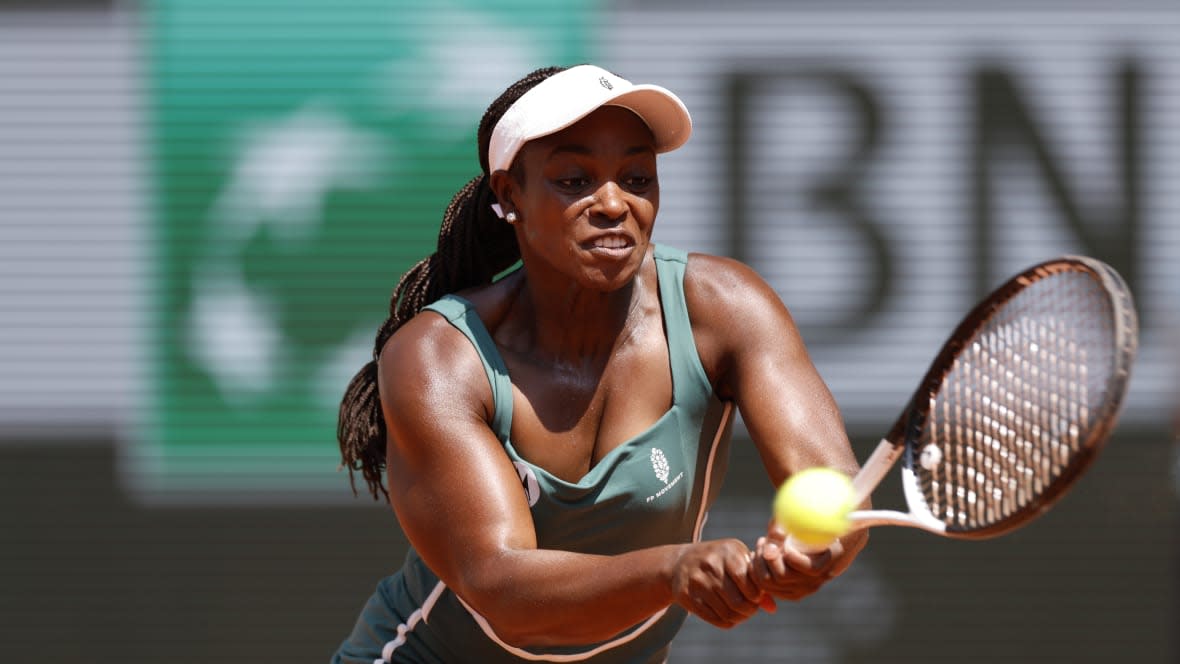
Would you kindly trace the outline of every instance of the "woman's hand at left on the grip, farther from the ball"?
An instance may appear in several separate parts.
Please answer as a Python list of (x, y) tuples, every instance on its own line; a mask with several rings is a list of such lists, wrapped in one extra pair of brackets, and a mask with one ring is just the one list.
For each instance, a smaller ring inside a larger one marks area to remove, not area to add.
[(749, 547), (738, 539), (687, 545), (676, 559), (671, 590), (677, 604), (722, 629), (746, 620), (767, 603), (750, 574)]

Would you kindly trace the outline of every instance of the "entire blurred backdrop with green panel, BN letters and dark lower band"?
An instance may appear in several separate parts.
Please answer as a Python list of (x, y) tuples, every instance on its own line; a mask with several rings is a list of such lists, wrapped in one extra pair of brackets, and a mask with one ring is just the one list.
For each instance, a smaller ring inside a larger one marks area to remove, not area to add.
[[(1102, 258), (1142, 323), (1053, 512), (878, 530), (671, 662), (1178, 660), (1174, 2), (0, 0), (0, 662), (327, 660), (406, 548), (339, 397), (486, 105), (582, 61), (684, 99), (656, 238), (771, 281), (861, 459), (1018, 269)], [(753, 543), (773, 487), (730, 466), (708, 532)]]

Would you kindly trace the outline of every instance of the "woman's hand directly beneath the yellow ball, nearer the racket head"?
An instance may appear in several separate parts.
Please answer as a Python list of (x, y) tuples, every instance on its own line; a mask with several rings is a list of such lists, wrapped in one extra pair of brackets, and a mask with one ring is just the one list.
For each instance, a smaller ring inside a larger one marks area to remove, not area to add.
[(753, 581), (779, 599), (807, 597), (840, 576), (856, 555), (856, 550), (850, 551), (840, 540), (820, 553), (807, 554), (788, 546), (786, 538), (782, 527), (772, 524), (767, 534), (758, 538), (750, 561)]

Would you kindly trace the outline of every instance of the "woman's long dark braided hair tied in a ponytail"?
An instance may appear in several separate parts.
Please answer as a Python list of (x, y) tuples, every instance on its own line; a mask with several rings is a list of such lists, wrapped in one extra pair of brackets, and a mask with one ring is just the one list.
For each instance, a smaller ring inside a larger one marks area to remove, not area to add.
[(489, 185), (487, 149), (492, 130), (522, 94), (564, 67), (537, 70), (493, 101), (479, 123), (479, 165), (483, 173), (468, 182), (447, 205), (439, 229), (434, 254), (419, 261), (398, 282), (389, 300), (389, 317), (376, 334), (373, 360), (353, 377), (340, 403), (336, 439), (341, 466), (348, 468), (348, 480), (356, 493), (355, 472), (360, 471), (374, 500), (389, 497), (381, 481), (385, 469), (386, 428), (378, 394), (378, 364), (385, 343), (393, 333), (414, 317), (422, 307), (439, 297), (491, 283), (496, 275), (520, 258), (512, 226), (492, 212), (496, 195)]

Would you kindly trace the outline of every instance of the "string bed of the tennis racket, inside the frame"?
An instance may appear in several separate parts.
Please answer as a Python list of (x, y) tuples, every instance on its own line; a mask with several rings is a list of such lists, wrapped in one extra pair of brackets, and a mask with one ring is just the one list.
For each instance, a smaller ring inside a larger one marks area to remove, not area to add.
[(1070, 472), (1107, 401), (1115, 330), (1087, 272), (1060, 272), (992, 311), (931, 396), (916, 468), (929, 511), (981, 530), (1035, 505)]

